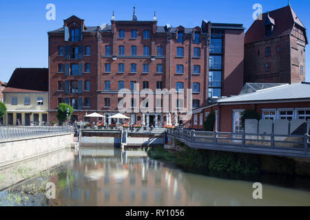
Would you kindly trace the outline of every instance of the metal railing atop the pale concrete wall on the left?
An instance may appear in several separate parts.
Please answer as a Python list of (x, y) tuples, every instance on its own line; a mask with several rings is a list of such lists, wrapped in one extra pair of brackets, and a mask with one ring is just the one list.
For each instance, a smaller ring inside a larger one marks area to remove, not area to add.
[(0, 142), (72, 132), (71, 126), (1, 126)]

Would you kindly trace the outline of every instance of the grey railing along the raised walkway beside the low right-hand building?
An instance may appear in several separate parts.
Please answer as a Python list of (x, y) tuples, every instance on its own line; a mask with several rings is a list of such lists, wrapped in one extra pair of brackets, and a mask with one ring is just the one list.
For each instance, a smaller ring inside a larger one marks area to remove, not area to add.
[(168, 135), (172, 135), (184, 140), (192, 147), (214, 146), (215, 148), (261, 148), (266, 151), (271, 149), (298, 151), (300, 153), (310, 153), (309, 138), (307, 133), (304, 135), (278, 135), (278, 134), (259, 134), (259, 133), (233, 133), (217, 131), (194, 131), (186, 129), (168, 129)]

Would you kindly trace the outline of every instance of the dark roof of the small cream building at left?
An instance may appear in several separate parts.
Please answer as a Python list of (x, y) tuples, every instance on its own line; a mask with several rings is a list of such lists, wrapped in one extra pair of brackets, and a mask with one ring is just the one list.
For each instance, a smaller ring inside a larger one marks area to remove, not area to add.
[(48, 91), (48, 68), (17, 68), (6, 88)]

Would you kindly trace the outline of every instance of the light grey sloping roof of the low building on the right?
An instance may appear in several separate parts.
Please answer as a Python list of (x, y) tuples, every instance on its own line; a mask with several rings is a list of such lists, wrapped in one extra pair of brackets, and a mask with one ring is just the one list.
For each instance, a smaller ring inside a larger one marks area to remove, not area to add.
[(222, 98), (218, 103), (225, 102), (251, 102), (267, 100), (291, 100), (310, 98), (310, 83), (293, 83), (279, 85), (268, 89), (261, 89), (249, 94)]

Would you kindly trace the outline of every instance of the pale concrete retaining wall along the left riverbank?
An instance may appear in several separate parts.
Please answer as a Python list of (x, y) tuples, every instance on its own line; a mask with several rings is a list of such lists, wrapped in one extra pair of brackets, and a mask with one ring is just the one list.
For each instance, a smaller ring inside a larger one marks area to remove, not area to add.
[(0, 166), (70, 147), (73, 133), (0, 143)]

